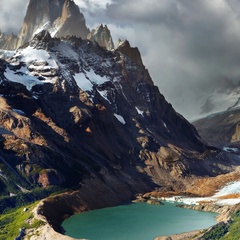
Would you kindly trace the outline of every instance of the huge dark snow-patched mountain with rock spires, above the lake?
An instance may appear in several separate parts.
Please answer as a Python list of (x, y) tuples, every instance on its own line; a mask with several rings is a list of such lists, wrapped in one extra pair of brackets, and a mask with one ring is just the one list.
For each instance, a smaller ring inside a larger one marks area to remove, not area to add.
[[(68, 32), (73, 20), (79, 32)], [(137, 48), (113, 49), (102, 25), (88, 33), (73, 1), (30, 1), (19, 48), (0, 60), (3, 194), (62, 186), (80, 190), (65, 196), (76, 208), (98, 208), (231, 170), (165, 100)]]

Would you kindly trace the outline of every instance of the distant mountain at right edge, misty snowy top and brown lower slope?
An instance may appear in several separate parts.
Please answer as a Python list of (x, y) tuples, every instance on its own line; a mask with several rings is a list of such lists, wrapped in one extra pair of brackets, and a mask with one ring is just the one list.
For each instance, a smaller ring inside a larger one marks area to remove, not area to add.
[(194, 126), (208, 144), (228, 152), (238, 152), (240, 84), (224, 79), (205, 100)]

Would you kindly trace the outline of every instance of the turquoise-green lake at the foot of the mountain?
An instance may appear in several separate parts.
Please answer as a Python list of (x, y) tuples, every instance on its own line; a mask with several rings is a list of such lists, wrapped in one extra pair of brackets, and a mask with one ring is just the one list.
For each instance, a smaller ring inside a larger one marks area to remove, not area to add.
[(65, 235), (89, 240), (153, 240), (157, 236), (210, 227), (214, 213), (137, 203), (80, 213), (62, 224)]

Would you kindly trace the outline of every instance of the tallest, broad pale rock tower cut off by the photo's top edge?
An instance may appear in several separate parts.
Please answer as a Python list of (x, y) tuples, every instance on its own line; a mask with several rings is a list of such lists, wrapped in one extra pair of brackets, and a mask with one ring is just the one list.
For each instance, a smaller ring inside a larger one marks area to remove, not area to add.
[(30, 0), (16, 47), (30, 41), (42, 30), (48, 30), (52, 37), (75, 35), (83, 39), (89, 33), (84, 16), (74, 1)]

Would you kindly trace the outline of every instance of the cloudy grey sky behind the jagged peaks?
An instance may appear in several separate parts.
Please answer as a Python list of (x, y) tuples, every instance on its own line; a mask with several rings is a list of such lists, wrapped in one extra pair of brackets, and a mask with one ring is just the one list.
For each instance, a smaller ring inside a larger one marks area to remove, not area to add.
[[(240, 81), (239, 0), (75, 0), (92, 29), (138, 47), (160, 92), (187, 118), (201, 95)], [(0, 0), (0, 29), (17, 33), (28, 0)]]

